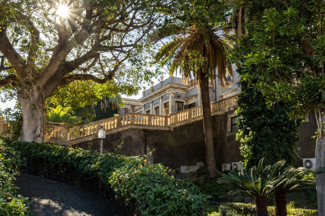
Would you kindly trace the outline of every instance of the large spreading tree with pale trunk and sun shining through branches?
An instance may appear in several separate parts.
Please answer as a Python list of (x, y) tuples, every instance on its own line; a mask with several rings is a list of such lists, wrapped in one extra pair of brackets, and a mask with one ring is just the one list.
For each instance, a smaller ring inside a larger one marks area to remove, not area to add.
[(45, 99), (59, 86), (76, 80), (104, 84), (121, 67), (124, 74), (139, 69), (141, 42), (160, 19), (157, 9), (163, 4), (163, 0), (2, 1), (0, 87), (17, 92), (22, 140), (43, 141)]

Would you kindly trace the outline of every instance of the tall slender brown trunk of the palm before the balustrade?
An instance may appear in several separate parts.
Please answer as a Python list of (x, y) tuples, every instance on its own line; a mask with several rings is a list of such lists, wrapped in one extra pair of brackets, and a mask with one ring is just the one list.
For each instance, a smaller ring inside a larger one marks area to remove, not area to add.
[(206, 77), (201, 70), (201, 101), (202, 101), (202, 113), (203, 113), (203, 130), (205, 139), (205, 151), (206, 151), (206, 166), (210, 172), (210, 177), (216, 176), (218, 173), (215, 165), (212, 122), (211, 122), (211, 107), (210, 107), (210, 95), (209, 95), (209, 77)]

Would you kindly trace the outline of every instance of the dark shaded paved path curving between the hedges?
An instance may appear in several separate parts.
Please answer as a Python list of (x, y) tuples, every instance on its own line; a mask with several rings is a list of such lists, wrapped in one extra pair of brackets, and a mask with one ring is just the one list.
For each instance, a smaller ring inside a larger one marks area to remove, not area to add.
[(113, 200), (57, 180), (20, 173), (18, 193), (28, 197), (37, 216), (126, 216)]

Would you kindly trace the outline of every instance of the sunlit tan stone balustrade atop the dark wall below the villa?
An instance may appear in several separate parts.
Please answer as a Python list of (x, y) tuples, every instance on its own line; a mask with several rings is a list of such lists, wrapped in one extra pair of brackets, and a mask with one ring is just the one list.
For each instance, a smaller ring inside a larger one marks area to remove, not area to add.
[[(237, 106), (235, 99), (237, 95), (211, 103), (211, 116), (223, 113), (228, 108)], [(202, 119), (202, 107), (194, 107), (172, 114), (167, 114), (164, 109), (164, 116), (139, 114), (134, 112), (131, 106), (131, 113), (117, 115), (112, 118), (102, 119), (89, 124), (69, 128), (64, 123), (47, 122), (45, 141), (60, 142), (68, 145), (76, 144), (86, 140), (94, 139), (98, 135), (98, 129), (106, 129), (106, 134), (122, 131), (128, 128), (145, 128), (154, 130), (173, 130), (174, 127), (184, 125)], [(3, 121), (4, 122), (4, 121)], [(3, 124), (3, 128), (6, 126)], [(0, 129), (1, 122), (0, 122)]]

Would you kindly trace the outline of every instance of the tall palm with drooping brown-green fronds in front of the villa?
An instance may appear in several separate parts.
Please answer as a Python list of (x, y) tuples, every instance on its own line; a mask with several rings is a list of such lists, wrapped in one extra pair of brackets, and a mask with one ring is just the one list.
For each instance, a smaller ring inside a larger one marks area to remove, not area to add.
[(222, 85), (225, 84), (227, 70), (232, 75), (227, 62), (226, 51), (232, 48), (235, 37), (223, 26), (197, 28), (173, 28), (159, 31), (157, 38), (171, 39), (163, 45), (155, 56), (161, 65), (170, 64), (169, 73), (182, 74), (183, 78), (194, 78), (201, 88), (203, 129), (206, 146), (206, 163), (210, 176), (217, 174), (211, 123), (209, 78), (213, 80), (216, 68)]

